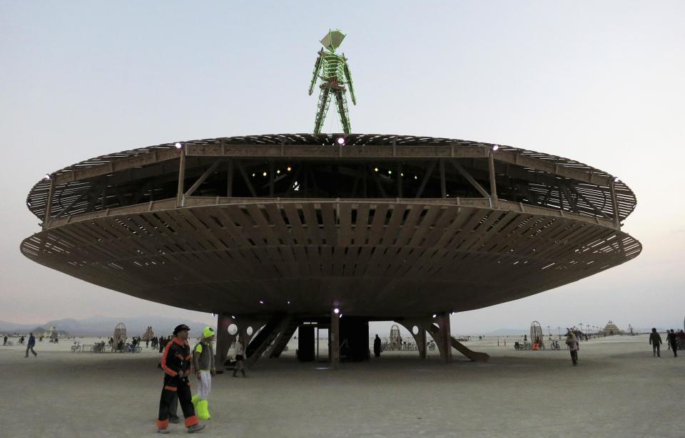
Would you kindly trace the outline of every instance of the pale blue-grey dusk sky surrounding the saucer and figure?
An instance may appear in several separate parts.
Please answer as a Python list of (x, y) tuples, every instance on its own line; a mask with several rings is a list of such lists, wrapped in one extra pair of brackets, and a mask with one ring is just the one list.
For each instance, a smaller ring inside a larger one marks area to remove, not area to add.
[[(427, 6), (428, 5), (428, 6)], [(159, 314), (215, 322), (29, 261), (47, 172), (163, 142), (311, 132), (318, 40), (347, 38), (352, 131), (480, 140), (620, 177), (633, 261), (452, 316), (453, 333), (685, 316), (683, 1), (0, 0), (0, 320)], [(325, 132), (340, 132), (333, 109)]]

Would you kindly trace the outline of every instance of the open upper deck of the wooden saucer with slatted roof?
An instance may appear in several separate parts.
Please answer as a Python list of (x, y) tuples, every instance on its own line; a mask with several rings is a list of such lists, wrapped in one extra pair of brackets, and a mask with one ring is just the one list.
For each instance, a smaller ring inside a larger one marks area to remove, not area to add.
[[(631, 189), (607, 172), (564, 157), (486, 142), (407, 135), (278, 134), (181, 145), (181, 149), (165, 143), (116, 152), (52, 172), (31, 189), (27, 207), (44, 226), (57, 226), (81, 215), (97, 217), (141, 204), (168, 204), (179, 193), (188, 194), (188, 204), (185, 198), (182, 201), (187, 206), (198, 202), (198, 197), (458, 203), (492, 197), (489, 172), (496, 175), (499, 200), (521, 209), (549, 209), (618, 228), (636, 205)], [(185, 162), (179, 187), (181, 155)]]

